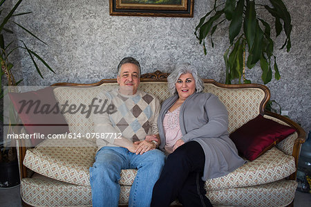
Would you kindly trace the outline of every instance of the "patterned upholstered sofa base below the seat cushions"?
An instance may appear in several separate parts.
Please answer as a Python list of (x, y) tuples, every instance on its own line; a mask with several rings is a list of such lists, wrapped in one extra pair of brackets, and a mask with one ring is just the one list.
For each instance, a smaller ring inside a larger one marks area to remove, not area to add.
[[(287, 206), (294, 199), (297, 182), (281, 180), (247, 188), (207, 189), (213, 206)], [(121, 186), (120, 205), (129, 204), (131, 186)], [(21, 180), (21, 197), (31, 206), (91, 206), (91, 186), (77, 186), (34, 174)], [(178, 205), (176, 201), (171, 206)]]

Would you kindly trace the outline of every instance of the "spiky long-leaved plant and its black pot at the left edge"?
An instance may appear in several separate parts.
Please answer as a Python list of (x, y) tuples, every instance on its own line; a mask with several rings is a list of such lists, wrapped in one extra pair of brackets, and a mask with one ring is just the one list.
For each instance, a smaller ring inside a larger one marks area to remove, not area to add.
[[(23, 39), (19, 39), (18, 37), (14, 36), (14, 32), (10, 29), (10, 24), (15, 25), (18, 28), (21, 28), (22, 30), (25, 30), (26, 33), (29, 35), (32, 35), (32, 37), (35, 37), (35, 39), (39, 40), (39, 42), (42, 42), (43, 44), (46, 44), (41, 39), (39, 39), (37, 36), (35, 36), (33, 33), (30, 32), (30, 30), (24, 28), (17, 22), (13, 20), (12, 17), (21, 16), (21, 15), (28, 15), (31, 12), (23, 12), (15, 14), (15, 11), (21, 4), (22, 0), (17, 1), (15, 3), (15, 6), (9, 10), (7, 14), (4, 14), (4, 5), (3, 3), (6, 2), (6, 0), (0, 1), (0, 64), (1, 64), (1, 99), (3, 99), (3, 96), (8, 91), (3, 91), (3, 77), (7, 80), (8, 86), (17, 86), (22, 80), (16, 81), (14, 77), (14, 69), (13, 64), (10, 62), (10, 55), (17, 49), (22, 49), (26, 51), (26, 54), (28, 57), (32, 60), (32, 63), (35, 66), (35, 69), (37, 70), (37, 73), (43, 78), (39, 67), (37, 66), (37, 63), (35, 61), (35, 58), (42, 62), (50, 71), (55, 73), (53, 69), (50, 68), (50, 66), (39, 56), (37, 53), (32, 51), (26, 44), (23, 42)], [(11, 42), (6, 44), (5, 40), (10, 39)], [(14, 44), (17, 44), (17, 46), (14, 46)], [(19, 44), (21, 46), (19, 46)], [(10, 109), (6, 109), (10, 110)], [(3, 121), (3, 111), (1, 111), (1, 119)], [(13, 114), (14, 115), (14, 114)], [(16, 116), (17, 117), (17, 116)], [(12, 130), (12, 127), (9, 127), (10, 130)], [(3, 134), (1, 134), (2, 136)], [(14, 145), (12, 142), (11, 144)], [(11, 187), (16, 186), (19, 183), (19, 170), (18, 170), (18, 163), (17, 163), (17, 153), (16, 148), (13, 145), (9, 145), (6, 143), (6, 141), (3, 138), (3, 144), (0, 143), (0, 187)]]

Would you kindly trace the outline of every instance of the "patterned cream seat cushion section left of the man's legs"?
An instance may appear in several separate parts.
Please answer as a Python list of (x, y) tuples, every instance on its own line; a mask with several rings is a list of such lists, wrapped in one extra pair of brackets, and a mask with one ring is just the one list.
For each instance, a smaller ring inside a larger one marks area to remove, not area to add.
[(26, 151), (23, 165), (58, 181), (90, 186), (96, 150), (96, 143), (86, 138), (46, 139)]

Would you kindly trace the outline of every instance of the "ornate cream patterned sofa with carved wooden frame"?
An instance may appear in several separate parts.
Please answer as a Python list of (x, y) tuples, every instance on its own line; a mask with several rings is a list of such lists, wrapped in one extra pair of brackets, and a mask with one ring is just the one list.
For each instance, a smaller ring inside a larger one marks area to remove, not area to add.
[[(169, 97), (167, 73), (142, 75), (140, 89), (161, 101)], [(225, 177), (206, 181), (207, 197), (214, 206), (292, 206), (296, 191), (296, 166), (305, 132), (292, 120), (265, 111), (270, 91), (261, 84), (220, 84), (204, 80), (205, 92), (216, 94), (229, 112), (229, 132), (234, 132), (258, 114), (296, 129), (271, 150)], [(66, 100), (90, 105), (99, 91), (117, 87), (115, 79), (95, 84), (54, 84), (59, 104)], [(75, 87), (74, 87), (75, 86)], [(64, 114), (71, 133), (93, 132), (91, 118)], [(21, 128), (19, 133), (24, 132)], [(95, 142), (88, 138), (46, 139), (36, 147), (17, 141), (21, 172), (21, 199), (24, 206), (91, 206), (88, 169), (93, 165)], [(122, 170), (120, 205), (128, 204), (136, 170)], [(178, 205), (175, 201), (172, 205)]]

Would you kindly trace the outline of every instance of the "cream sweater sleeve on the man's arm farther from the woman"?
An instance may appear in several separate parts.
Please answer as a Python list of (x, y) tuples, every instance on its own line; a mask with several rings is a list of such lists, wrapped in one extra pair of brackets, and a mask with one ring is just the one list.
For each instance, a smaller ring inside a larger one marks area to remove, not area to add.
[[(106, 98), (104, 93), (100, 93), (100, 95), (97, 96), (97, 100), (95, 100), (95, 104), (99, 105), (100, 106), (99, 108), (101, 108), (105, 100), (107, 100), (106, 107), (112, 104), (111, 99)], [(97, 137), (104, 139), (104, 141), (113, 144), (115, 142), (115, 136), (118, 136), (118, 133), (120, 132), (115, 127), (113, 127), (113, 124), (111, 123), (107, 111), (105, 111), (102, 114), (95, 113), (93, 111), (93, 121), (94, 121), (94, 130), (96, 133), (95, 135)], [(111, 134), (108, 133), (112, 133), (112, 136), (110, 136)]]

